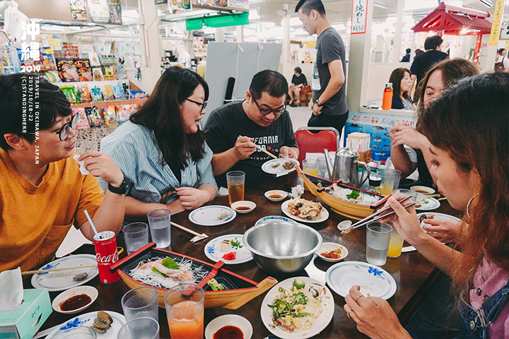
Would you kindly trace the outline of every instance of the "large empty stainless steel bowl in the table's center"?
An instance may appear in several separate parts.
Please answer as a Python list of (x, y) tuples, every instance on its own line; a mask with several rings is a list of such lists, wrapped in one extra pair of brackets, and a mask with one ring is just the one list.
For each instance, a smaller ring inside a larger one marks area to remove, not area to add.
[(243, 242), (262, 270), (281, 275), (308, 266), (315, 251), (322, 246), (322, 236), (306, 225), (269, 220), (247, 230)]

